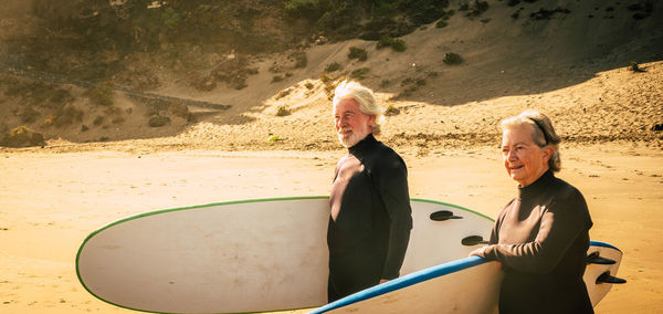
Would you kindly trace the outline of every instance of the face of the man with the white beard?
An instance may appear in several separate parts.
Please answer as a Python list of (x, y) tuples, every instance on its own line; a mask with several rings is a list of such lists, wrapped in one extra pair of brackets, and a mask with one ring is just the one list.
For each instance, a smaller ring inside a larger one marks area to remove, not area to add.
[(369, 135), (376, 121), (376, 116), (362, 113), (359, 103), (352, 98), (336, 104), (333, 115), (338, 140), (345, 147), (352, 147)]

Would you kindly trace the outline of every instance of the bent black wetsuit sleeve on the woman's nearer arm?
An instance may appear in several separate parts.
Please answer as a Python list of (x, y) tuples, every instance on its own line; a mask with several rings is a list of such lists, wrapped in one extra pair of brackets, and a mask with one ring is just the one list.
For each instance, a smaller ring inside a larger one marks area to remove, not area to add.
[[(591, 227), (587, 202), (578, 190), (556, 197), (543, 214), (534, 241), (522, 244), (493, 244), (484, 255), (508, 268), (528, 273), (548, 273), (566, 251)], [(533, 232), (537, 232), (533, 230)]]

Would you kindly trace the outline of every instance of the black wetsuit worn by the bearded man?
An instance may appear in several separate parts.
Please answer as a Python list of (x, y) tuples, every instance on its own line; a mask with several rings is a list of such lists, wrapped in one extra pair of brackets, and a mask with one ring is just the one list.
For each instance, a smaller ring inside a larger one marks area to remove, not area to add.
[(398, 278), (412, 229), (406, 163), (371, 134), (349, 153), (329, 198), (329, 302)]

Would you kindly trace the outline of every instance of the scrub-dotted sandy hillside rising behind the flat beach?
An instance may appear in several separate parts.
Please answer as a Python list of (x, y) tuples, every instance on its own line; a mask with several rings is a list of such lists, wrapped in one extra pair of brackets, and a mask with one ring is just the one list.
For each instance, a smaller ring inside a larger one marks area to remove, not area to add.
[[(663, 56), (651, 44), (661, 42), (652, 32), (660, 8), (549, 2), (35, 0), (30, 19), (2, 19), (0, 65), (13, 72), (0, 77), (0, 132), (24, 126), (46, 143), (219, 138), (210, 145), (330, 149), (328, 100), (349, 77), (378, 92), (392, 127), (386, 140), (398, 145), (490, 144), (499, 117), (533, 106), (556, 114), (571, 142), (660, 143)], [(341, 18), (350, 9), (359, 19)], [(619, 23), (589, 28), (592, 42), (572, 35), (598, 18)], [(281, 139), (265, 145), (275, 133)]]

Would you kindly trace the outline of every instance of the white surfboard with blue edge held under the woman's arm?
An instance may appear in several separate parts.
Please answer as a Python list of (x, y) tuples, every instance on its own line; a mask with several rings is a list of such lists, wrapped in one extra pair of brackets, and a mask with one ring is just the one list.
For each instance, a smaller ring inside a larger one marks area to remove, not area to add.
[[(621, 251), (591, 241), (588, 252), (594, 259), (588, 259), (583, 280), (596, 306), (612, 286), (601, 281), (620, 281), (607, 278), (617, 274)], [(503, 275), (497, 262), (470, 257), (357, 292), (311, 313), (497, 313)]]

